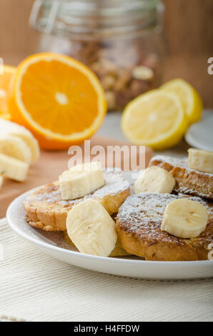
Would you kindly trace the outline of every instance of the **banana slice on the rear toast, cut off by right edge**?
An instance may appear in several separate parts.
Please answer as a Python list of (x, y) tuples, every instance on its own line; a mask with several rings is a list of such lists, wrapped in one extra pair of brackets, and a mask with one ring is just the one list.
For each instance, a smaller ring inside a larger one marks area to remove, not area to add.
[(190, 148), (189, 152), (189, 168), (213, 174), (213, 152), (202, 151)]

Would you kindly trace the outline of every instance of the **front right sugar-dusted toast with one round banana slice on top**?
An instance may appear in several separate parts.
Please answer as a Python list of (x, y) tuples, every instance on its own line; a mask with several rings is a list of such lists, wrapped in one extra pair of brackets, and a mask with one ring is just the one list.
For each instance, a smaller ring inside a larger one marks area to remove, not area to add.
[(165, 207), (179, 194), (134, 194), (122, 204), (117, 214), (117, 233), (122, 247), (132, 255), (146, 260), (207, 260), (208, 246), (213, 243), (213, 203), (189, 197), (207, 207), (207, 229), (199, 237), (183, 239), (160, 229)]

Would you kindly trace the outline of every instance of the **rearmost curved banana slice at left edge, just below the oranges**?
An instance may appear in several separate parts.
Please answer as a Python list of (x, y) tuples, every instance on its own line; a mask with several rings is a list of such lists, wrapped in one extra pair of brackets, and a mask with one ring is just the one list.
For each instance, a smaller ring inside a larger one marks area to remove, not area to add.
[(28, 129), (22, 127), (14, 122), (9, 122), (9, 120), (0, 120), (0, 134), (11, 134), (16, 137), (21, 138), (31, 150), (31, 163), (39, 159), (40, 149), (39, 143), (34, 138), (34, 136), (29, 132)]

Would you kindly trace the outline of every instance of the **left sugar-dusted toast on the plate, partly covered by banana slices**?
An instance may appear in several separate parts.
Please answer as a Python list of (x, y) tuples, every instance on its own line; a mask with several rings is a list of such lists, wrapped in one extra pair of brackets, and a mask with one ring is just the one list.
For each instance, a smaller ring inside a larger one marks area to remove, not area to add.
[(87, 198), (99, 201), (109, 214), (118, 212), (119, 207), (129, 196), (129, 182), (120, 172), (104, 172), (104, 187), (79, 199), (61, 199), (59, 182), (46, 184), (36, 189), (24, 201), (26, 219), (29, 225), (46, 231), (66, 230), (66, 216), (71, 208)]

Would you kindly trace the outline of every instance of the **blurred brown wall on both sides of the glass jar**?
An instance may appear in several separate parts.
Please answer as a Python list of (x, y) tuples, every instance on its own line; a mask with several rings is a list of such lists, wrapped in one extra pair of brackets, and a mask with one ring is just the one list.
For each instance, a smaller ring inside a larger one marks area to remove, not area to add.
[[(0, 57), (16, 65), (36, 51), (39, 33), (29, 27), (34, 0), (0, 0)], [(213, 108), (213, 75), (207, 59), (213, 57), (213, 1), (164, 0), (164, 34), (169, 54), (164, 81), (180, 76), (202, 94), (205, 107)]]

